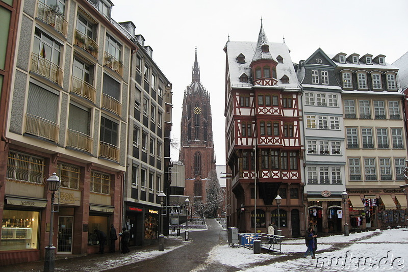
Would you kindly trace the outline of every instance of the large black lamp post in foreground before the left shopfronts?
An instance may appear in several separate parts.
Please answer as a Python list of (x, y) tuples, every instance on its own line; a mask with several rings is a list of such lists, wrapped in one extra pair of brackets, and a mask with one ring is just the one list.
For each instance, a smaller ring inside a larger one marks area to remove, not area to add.
[(51, 218), (49, 219), (49, 242), (45, 247), (44, 272), (55, 271), (55, 247), (53, 246), (53, 228), (54, 228), (54, 201), (55, 192), (60, 187), (61, 180), (57, 173), (53, 173), (48, 179), (48, 190), (51, 192)]

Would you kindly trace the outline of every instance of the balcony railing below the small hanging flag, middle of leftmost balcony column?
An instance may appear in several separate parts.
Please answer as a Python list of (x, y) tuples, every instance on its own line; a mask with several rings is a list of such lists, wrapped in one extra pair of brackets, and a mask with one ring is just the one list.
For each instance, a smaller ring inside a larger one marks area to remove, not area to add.
[(31, 55), (31, 71), (62, 86), (64, 71), (58, 65), (35, 53)]

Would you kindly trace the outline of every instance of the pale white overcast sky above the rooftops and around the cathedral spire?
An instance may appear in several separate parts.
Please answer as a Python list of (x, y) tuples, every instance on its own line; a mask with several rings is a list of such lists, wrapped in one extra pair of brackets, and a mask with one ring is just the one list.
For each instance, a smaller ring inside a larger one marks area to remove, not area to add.
[[(228, 35), (231, 41), (256, 42), (262, 17), (269, 42), (283, 42), (285, 36), (294, 63), (308, 59), (319, 47), (328, 55), (381, 53), (388, 63), (408, 51), (406, 0), (112, 2), (113, 19), (134, 22), (136, 34), (152, 47), (154, 61), (173, 85), (171, 137), (177, 141), (183, 95), (191, 83), (197, 47), (201, 83), (211, 97), (217, 165), (225, 165), (223, 48)], [(179, 150), (172, 149), (171, 157), (177, 160)]]

